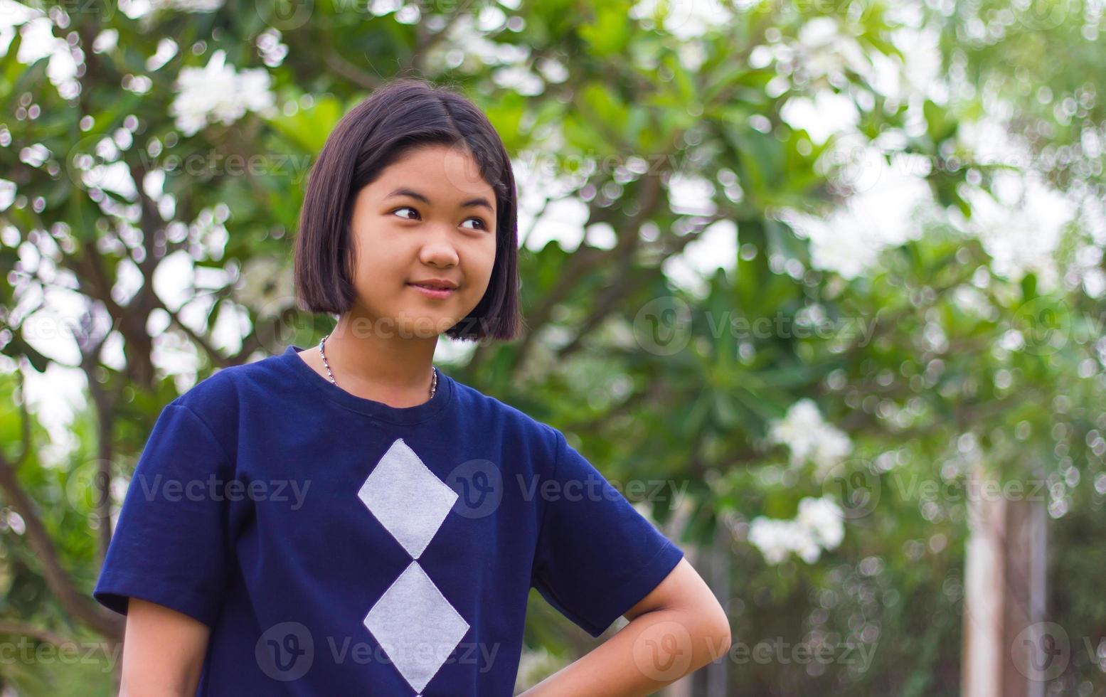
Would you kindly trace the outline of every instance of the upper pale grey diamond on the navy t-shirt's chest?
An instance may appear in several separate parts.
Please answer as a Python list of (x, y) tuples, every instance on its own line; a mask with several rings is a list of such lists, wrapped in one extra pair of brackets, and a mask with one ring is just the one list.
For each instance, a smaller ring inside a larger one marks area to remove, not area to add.
[(430, 543), (457, 492), (397, 438), (361, 486), (357, 496), (413, 559)]

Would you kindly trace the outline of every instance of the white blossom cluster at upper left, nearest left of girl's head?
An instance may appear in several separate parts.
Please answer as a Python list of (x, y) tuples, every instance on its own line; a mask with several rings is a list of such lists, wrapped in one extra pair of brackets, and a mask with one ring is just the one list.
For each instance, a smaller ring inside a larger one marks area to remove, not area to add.
[(263, 67), (237, 72), (226, 65), (226, 52), (218, 50), (204, 67), (182, 67), (177, 77), (177, 96), (169, 105), (169, 115), (185, 135), (219, 121), (230, 125), (247, 111), (270, 110), (275, 97), (269, 86), (272, 77)]

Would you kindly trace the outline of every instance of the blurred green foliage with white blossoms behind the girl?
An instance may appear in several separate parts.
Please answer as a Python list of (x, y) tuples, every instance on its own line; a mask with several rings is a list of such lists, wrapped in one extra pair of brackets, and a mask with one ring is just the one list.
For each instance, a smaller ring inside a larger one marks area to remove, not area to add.
[[(987, 471), (1047, 507), (1048, 694), (1106, 695), (1103, 11), (4, 0), (4, 694), (111, 693), (88, 594), (155, 418), (330, 329), (291, 294), (307, 170), (425, 76), (515, 158), (529, 327), (437, 363), (667, 482), (632, 500), (734, 643), (834, 658), (731, 659), (713, 694), (958, 694)], [(596, 644), (536, 592), (525, 641), (520, 689)]]

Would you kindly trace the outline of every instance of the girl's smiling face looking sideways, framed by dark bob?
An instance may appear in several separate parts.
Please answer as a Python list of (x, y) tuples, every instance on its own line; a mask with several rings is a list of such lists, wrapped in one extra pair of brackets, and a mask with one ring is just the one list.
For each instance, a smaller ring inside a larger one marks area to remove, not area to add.
[[(408, 150), (363, 187), (351, 219), (353, 282), (371, 331), (430, 337), (467, 316), (491, 280), (495, 208), (495, 193), (463, 148)], [(435, 279), (456, 288), (414, 285)]]

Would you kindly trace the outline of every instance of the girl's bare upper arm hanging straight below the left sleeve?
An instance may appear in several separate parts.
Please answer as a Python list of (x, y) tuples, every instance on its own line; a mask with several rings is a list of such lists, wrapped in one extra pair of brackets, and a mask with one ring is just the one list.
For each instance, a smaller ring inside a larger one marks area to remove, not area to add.
[(132, 597), (123, 639), (119, 697), (196, 694), (210, 627), (176, 610)]

